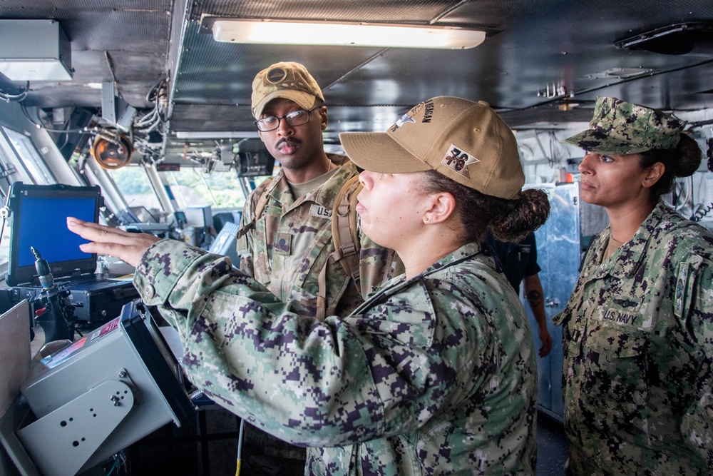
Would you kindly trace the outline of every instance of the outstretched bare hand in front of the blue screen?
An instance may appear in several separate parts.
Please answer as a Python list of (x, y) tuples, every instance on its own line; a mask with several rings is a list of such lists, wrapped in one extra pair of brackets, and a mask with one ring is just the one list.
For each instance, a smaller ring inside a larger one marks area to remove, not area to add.
[(134, 267), (138, 266), (150, 245), (161, 239), (147, 233), (128, 233), (118, 228), (89, 223), (71, 216), (67, 218), (67, 228), (91, 241), (79, 245), (83, 252), (110, 255)]

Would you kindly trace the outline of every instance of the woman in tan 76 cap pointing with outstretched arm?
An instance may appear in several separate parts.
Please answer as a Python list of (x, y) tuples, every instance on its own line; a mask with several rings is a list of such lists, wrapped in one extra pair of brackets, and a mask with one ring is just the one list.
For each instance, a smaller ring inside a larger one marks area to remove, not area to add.
[(185, 243), (68, 227), (93, 241), (84, 251), (136, 265), (134, 284), (178, 330), (193, 382), (308, 446), (305, 474), (533, 475), (533, 340), (483, 253), (488, 228), (515, 240), (548, 216), (543, 191), (521, 191), (513, 133), (486, 103), (441, 96), (386, 133), (341, 138), (366, 169), (362, 228), (406, 268), (341, 318), (299, 315)]

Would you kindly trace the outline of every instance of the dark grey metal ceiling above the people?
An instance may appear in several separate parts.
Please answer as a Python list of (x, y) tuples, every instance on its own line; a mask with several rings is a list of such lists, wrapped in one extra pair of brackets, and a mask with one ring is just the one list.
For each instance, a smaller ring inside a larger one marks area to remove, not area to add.
[[(462, 51), (222, 44), (205, 15), (443, 24), (488, 36)], [(71, 40), (73, 81), (31, 83), (27, 106), (99, 108), (101, 91), (86, 84), (116, 81), (143, 113), (153, 108), (148, 93), (168, 78), (172, 148), (185, 142), (177, 133), (254, 131), (252, 78), (276, 61), (303, 63), (322, 86), (328, 137), (383, 131), (438, 95), (488, 101), (513, 128), (588, 121), (601, 95), (679, 111), (713, 107), (711, 0), (3, 0), (0, 18), (56, 19)], [(688, 54), (615, 45), (676, 24), (698, 25)], [(651, 71), (617, 77), (631, 68)], [(24, 86), (0, 81), (13, 84)], [(579, 106), (562, 111), (567, 102)]]

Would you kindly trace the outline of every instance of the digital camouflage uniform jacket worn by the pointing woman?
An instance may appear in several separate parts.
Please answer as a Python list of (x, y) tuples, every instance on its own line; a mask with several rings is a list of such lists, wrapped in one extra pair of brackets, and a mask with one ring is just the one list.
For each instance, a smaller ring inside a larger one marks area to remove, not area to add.
[(308, 446), (307, 474), (533, 474), (530, 329), (478, 245), (322, 322), (227, 263), (162, 240), (134, 283), (178, 329), (193, 383)]

